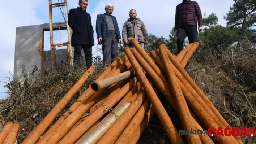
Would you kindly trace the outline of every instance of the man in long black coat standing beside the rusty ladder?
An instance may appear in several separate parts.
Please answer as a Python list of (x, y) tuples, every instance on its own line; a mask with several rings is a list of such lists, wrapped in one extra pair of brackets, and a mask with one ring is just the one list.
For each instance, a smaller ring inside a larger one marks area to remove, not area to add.
[(82, 48), (85, 53), (86, 67), (93, 63), (92, 46), (93, 26), (91, 25), (91, 16), (86, 12), (88, 0), (79, 0), (79, 7), (69, 10), (68, 25), (72, 28), (71, 45), (74, 47), (74, 62), (79, 63), (82, 53)]

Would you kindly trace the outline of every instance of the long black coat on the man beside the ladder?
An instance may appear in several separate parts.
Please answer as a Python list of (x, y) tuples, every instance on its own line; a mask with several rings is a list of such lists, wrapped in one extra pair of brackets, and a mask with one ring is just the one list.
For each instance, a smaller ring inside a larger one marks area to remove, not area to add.
[(93, 26), (91, 16), (81, 8), (70, 9), (68, 12), (68, 25), (73, 30), (71, 45), (87, 44), (94, 45)]

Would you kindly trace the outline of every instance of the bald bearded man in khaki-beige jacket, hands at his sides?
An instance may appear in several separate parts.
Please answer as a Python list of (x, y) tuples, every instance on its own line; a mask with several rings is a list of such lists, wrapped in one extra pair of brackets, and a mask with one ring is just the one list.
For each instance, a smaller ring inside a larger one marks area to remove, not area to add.
[(129, 48), (133, 48), (133, 45), (130, 43), (132, 38), (135, 38), (137, 42), (144, 48), (144, 44), (148, 44), (148, 32), (146, 27), (139, 18), (136, 18), (137, 12), (135, 9), (131, 9), (129, 12), (129, 19), (124, 23), (123, 26), (123, 41), (125, 45), (128, 45)]

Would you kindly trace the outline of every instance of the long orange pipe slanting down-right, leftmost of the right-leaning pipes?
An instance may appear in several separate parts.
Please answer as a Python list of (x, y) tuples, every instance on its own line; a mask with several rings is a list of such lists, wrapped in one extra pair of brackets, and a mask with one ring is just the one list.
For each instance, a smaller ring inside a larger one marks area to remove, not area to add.
[[(134, 44), (133, 44), (134, 45)], [(137, 47), (138, 47), (137, 43)], [(136, 45), (134, 45), (136, 47)], [(159, 120), (161, 121), (163, 127), (165, 128), (166, 134), (168, 138), (171, 140), (172, 143), (182, 144), (184, 141), (178, 135), (178, 131), (176, 130), (175, 126), (173, 125), (170, 117), (168, 116), (165, 108), (163, 107), (161, 101), (158, 99), (156, 93), (154, 92), (153, 88), (150, 86), (150, 83), (146, 76), (144, 75), (143, 71), (140, 68), (140, 65), (136, 61), (135, 57), (131, 53), (131, 50), (129, 47), (124, 48), (124, 52), (127, 55), (129, 61), (132, 64), (133, 69), (135, 70), (135, 73), (140, 80), (142, 87), (144, 88), (151, 104), (153, 105), (153, 108), (155, 109), (155, 112), (157, 113), (157, 116)]]

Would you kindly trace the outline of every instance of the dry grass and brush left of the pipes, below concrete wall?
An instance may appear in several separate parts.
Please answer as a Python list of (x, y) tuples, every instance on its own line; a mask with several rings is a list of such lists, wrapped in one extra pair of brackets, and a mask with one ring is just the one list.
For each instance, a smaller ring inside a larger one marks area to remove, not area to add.
[[(89, 76), (62, 113), (68, 110), (102, 71), (102, 67), (98, 67), (93, 75)], [(18, 143), (21, 143), (85, 72), (85, 64), (74, 67), (61, 65), (56, 74), (50, 71), (40, 72), (36, 67), (30, 75), (24, 70), (24, 81), (12, 80), (6, 85), (9, 88), (9, 96), (0, 102), (1, 123), (20, 123)], [(59, 119), (62, 113), (56, 119)]]

